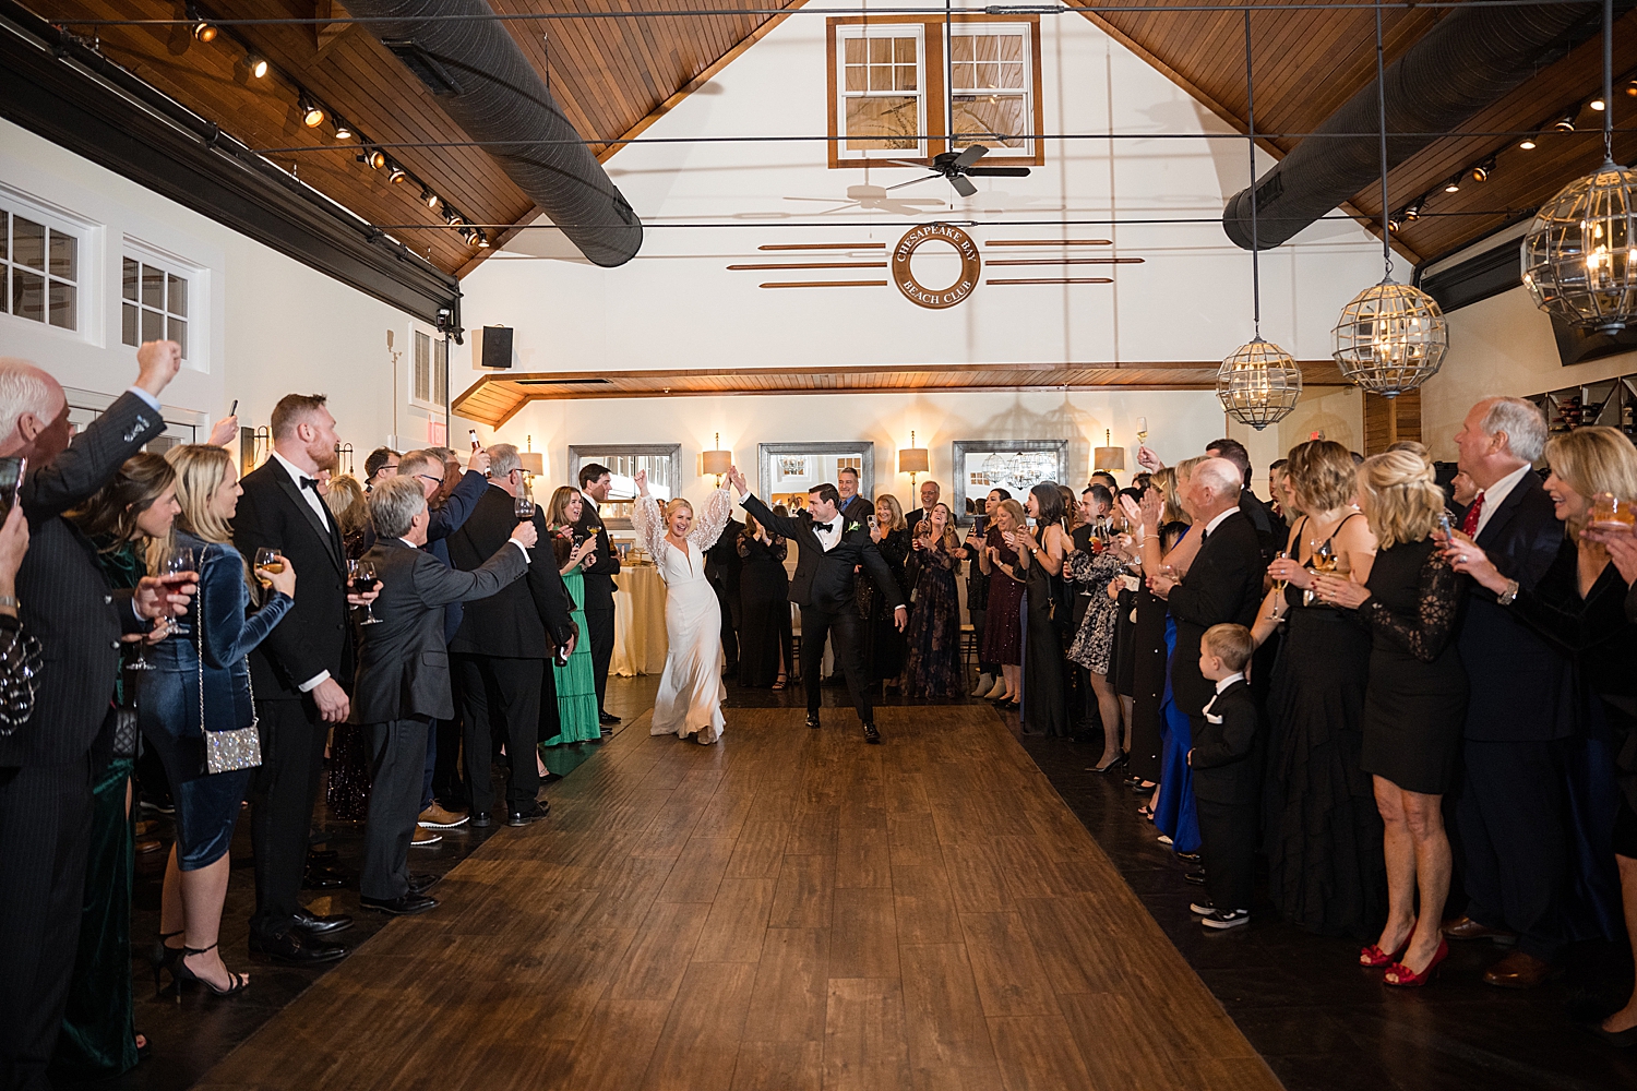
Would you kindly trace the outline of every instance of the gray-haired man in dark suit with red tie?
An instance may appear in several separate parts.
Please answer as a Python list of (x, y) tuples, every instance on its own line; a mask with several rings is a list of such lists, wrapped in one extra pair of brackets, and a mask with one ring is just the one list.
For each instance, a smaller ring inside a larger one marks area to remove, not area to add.
[[(1460, 468), (1478, 492), (1460, 530), (1501, 576), (1534, 587), (1557, 558), (1563, 525), (1531, 463), (1545, 450), (1545, 417), (1517, 397), (1486, 397), (1455, 435)], [(1568, 824), (1560, 743), (1573, 734), (1570, 662), (1514, 610), (1468, 582), (1460, 622), (1467, 669), (1462, 782), (1455, 834), (1467, 913), (1450, 939), (1509, 939), (1517, 947), (1483, 975), (1490, 985), (1532, 988), (1558, 973), (1560, 903)]]

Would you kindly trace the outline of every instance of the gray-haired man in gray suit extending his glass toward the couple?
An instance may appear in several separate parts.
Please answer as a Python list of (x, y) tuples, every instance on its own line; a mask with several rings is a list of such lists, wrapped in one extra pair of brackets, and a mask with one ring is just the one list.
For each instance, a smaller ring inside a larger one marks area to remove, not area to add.
[(401, 916), (437, 908), (437, 900), (426, 896), (431, 883), (409, 875), (409, 839), (421, 813), (427, 726), (455, 715), (444, 607), (486, 599), (527, 572), (535, 528), (519, 523), (494, 556), (462, 572), (421, 550), (431, 517), (414, 478), (377, 484), (370, 519), (380, 538), (363, 559), (375, 564), (381, 597), (372, 610), (380, 623), (359, 626), (352, 685), (352, 723), (370, 726), (373, 748), (359, 901)]

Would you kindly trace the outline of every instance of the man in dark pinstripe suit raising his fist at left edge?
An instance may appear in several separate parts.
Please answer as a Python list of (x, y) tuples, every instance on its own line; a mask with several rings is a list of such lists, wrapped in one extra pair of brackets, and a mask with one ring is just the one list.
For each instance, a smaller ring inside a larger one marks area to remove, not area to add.
[(28, 460), (18, 502), (29, 545), (16, 576), (23, 631), (43, 648), (33, 715), (0, 734), (0, 1086), (46, 1091), (74, 972), (85, 893), (92, 785), (108, 764), (108, 707), (120, 635), (183, 607), (165, 594), (108, 586), (97, 550), (62, 512), (88, 499), (165, 429), (159, 394), (182, 365), (175, 342), (136, 353), (136, 384), (69, 438), (62, 386), (23, 360), (0, 358), (0, 456)]

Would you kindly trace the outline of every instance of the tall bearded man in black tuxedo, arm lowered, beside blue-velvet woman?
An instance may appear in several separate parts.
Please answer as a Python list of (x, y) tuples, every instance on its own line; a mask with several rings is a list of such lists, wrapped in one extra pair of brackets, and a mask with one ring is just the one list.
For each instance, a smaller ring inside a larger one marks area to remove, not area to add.
[(301, 572), (296, 604), (250, 653), (262, 765), (250, 785), (255, 914), (250, 954), (308, 963), (340, 959), (322, 936), (345, 916), (308, 913), (300, 901), (313, 805), (329, 728), (347, 721), (352, 622), (340, 527), (319, 499), (318, 478), (336, 468), (336, 417), (322, 394), (286, 394), (273, 406), (273, 453), (244, 476), (232, 543), (247, 558), (273, 548)]

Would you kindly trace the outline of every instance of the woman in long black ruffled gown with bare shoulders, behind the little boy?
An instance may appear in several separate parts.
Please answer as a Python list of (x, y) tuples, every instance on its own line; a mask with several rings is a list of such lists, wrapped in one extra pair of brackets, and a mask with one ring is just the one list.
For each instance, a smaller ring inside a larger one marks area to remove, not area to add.
[(1346, 447), (1301, 443), (1285, 473), (1306, 515), (1290, 532), (1288, 556), (1269, 566), (1275, 587), (1256, 625), (1259, 644), (1285, 625), (1267, 698), (1269, 896), (1310, 932), (1369, 939), (1382, 926), (1387, 887), (1382, 816), (1359, 764), (1370, 635), (1306, 592), (1313, 569), (1328, 563), (1367, 581), (1375, 535), (1352, 507), (1357, 481)]

